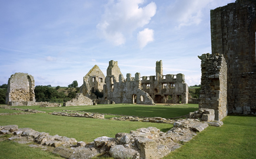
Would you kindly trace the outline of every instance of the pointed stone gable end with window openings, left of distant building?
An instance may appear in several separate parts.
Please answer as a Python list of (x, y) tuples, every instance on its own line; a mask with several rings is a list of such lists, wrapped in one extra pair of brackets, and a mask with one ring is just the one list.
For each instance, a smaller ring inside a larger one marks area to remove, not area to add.
[(84, 76), (84, 83), (80, 87), (80, 93), (90, 99), (98, 99), (103, 97), (103, 88), (105, 84), (105, 75), (97, 65)]

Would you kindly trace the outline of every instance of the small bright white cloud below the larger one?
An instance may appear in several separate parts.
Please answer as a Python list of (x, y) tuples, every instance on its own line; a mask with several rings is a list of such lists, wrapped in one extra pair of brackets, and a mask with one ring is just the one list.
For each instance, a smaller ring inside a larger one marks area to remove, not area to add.
[(145, 28), (137, 35), (139, 48), (144, 48), (149, 42), (154, 41), (154, 31), (152, 29)]

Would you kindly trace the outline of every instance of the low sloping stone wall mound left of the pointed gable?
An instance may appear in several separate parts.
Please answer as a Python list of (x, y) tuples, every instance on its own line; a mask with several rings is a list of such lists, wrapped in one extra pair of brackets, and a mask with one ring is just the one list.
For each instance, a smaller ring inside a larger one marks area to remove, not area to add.
[(74, 99), (69, 100), (68, 102), (65, 102), (63, 106), (90, 106), (92, 105), (92, 100), (88, 97), (85, 97), (82, 93), (77, 93), (77, 96), (75, 96)]

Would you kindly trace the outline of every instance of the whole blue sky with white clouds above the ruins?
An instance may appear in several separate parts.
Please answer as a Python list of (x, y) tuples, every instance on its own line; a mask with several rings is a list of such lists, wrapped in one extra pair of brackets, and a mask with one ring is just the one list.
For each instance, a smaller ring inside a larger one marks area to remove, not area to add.
[(109, 60), (122, 74), (183, 73), (200, 84), (198, 55), (211, 53), (210, 10), (235, 0), (0, 0), (0, 84), (16, 72), (35, 85), (78, 86)]

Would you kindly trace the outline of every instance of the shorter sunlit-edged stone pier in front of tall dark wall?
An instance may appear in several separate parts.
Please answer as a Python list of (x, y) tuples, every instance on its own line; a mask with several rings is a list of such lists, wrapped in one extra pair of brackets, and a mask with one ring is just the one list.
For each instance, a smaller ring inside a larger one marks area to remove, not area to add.
[(227, 116), (227, 63), (223, 55), (210, 53), (201, 59), (201, 91), (199, 109), (214, 109), (215, 120)]

